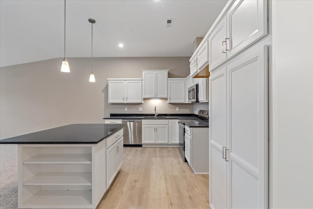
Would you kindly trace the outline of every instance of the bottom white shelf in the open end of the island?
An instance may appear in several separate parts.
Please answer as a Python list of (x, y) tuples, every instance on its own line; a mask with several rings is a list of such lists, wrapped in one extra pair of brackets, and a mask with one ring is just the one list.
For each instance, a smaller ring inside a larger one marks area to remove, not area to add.
[(23, 203), (27, 208), (92, 208), (90, 190), (41, 190)]

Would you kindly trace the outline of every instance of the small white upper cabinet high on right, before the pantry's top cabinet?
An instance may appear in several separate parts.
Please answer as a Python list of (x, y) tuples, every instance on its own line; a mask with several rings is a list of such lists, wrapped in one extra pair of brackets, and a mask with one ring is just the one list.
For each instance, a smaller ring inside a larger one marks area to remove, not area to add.
[(204, 40), (190, 58), (190, 76), (193, 77), (201, 69), (207, 66), (209, 62), (208, 41)]

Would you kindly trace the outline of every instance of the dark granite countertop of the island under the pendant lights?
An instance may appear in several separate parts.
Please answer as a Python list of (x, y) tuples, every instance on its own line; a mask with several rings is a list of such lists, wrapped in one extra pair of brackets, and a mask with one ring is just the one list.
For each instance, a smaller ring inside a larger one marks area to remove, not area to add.
[(2, 139), (0, 144), (96, 144), (123, 126), (123, 124), (70, 124)]

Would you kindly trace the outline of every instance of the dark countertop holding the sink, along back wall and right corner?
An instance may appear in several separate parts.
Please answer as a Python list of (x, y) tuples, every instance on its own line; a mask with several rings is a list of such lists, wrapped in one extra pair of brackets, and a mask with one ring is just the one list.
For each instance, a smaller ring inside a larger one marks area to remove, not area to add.
[[(146, 117), (154, 116), (154, 114), (110, 114), (110, 117), (104, 117), (103, 119), (124, 119), (124, 120), (140, 120), (140, 119), (179, 119), (186, 126), (190, 128), (208, 128), (209, 123), (201, 120), (198, 115), (195, 114), (158, 114), (157, 116), (163, 117)], [(164, 117), (165, 116), (165, 117)]]

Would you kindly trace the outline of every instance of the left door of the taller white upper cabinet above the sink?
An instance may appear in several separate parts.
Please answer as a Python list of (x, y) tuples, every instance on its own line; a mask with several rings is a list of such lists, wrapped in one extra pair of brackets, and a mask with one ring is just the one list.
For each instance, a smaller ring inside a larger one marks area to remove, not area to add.
[(143, 98), (156, 97), (156, 72), (142, 71), (142, 78)]

